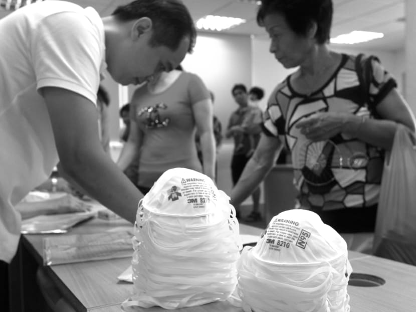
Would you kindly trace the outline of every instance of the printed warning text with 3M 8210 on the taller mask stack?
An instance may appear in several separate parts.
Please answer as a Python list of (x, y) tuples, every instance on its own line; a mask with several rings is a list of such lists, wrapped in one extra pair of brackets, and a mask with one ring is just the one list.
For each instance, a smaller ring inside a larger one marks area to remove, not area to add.
[(182, 196), (193, 208), (204, 208), (206, 204), (217, 201), (216, 193), (212, 186), (204, 179), (182, 179)]

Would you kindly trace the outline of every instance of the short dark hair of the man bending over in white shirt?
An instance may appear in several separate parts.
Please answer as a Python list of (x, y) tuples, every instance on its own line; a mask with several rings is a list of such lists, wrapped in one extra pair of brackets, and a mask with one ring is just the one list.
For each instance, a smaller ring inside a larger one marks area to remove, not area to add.
[(196, 30), (188, 9), (178, 0), (135, 0), (118, 7), (112, 14), (122, 22), (147, 17), (153, 23), (150, 46), (166, 46), (176, 51), (183, 38), (189, 37), (188, 52), (195, 45)]

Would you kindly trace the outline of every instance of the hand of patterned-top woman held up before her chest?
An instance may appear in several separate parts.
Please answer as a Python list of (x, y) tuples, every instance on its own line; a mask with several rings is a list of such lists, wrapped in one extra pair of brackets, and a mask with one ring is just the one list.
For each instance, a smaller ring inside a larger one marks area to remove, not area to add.
[[(361, 118), (353, 114), (318, 112), (300, 120), (296, 124), (296, 128), (301, 129), (300, 132), (311, 141), (324, 141), (344, 132), (345, 125), (351, 121), (351, 118), (357, 119), (356, 124), (358, 126)], [(356, 131), (354, 132), (356, 133)], [(348, 134), (351, 135), (351, 133)]]

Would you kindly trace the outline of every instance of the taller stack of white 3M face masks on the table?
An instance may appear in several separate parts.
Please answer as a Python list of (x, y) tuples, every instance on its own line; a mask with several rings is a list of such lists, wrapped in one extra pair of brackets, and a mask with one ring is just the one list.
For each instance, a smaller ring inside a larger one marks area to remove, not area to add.
[(124, 306), (174, 309), (226, 300), (242, 248), (235, 209), (198, 172), (166, 171), (139, 204), (133, 237), (134, 295)]

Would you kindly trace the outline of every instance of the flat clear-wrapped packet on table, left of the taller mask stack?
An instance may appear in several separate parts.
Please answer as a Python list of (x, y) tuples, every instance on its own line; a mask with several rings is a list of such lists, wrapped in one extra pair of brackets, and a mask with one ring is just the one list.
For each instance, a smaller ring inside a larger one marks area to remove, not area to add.
[(132, 236), (132, 231), (119, 231), (46, 237), (44, 265), (131, 257)]

